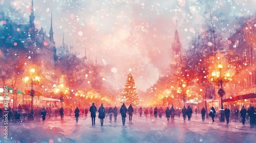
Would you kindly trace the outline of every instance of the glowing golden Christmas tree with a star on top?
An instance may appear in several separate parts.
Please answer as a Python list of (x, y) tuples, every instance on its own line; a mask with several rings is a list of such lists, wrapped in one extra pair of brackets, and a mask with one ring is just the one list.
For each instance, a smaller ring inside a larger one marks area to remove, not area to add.
[(129, 106), (130, 104), (132, 104), (132, 106), (139, 105), (140, 99), (139, 99), (138, 92), (136, 90), (131, 69), (130, 69), (130, 73), (127, 76), (127, 80), (122, 91), (122, 96), (123, 96), (122, 102), (124, 102), (127, 106)]

